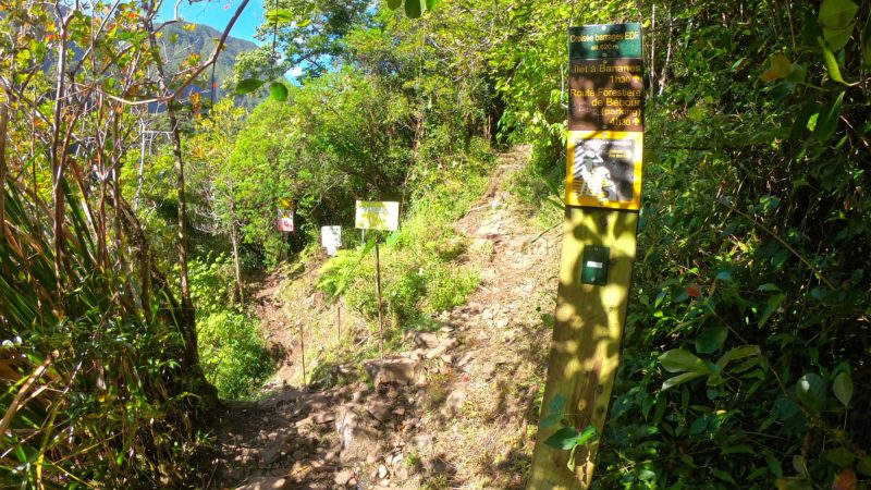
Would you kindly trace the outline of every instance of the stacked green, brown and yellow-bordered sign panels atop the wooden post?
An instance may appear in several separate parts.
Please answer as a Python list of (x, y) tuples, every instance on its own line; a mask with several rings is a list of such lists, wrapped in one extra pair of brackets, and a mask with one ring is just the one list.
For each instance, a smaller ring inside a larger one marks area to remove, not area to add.
[(641, 207), (643, 77), (639, 24), (569, 29), (565, 204)]

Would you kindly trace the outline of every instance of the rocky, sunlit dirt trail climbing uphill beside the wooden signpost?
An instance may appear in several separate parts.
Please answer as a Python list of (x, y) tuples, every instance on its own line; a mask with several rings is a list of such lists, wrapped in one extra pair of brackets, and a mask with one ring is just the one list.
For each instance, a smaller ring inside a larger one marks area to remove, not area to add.
[[(536, 240), (529, 210), (506, 191), (527, 158), (503, 156), (487, 194), (455, 226), (469, 243), (461, 260), (480, 271), (468, 303), (439, 314), (439, 330), (409, 332), (407, 352), (332, 368), (365, 369), (369, 384), (294, 388), (296, 324), (279, 297), (282, 278), (263, 283), (258, 313), (285, 360), (274, 394), (221, 413), (211, 488), (523, 488), (550, 340), (542, 313), (554, 307), (560, 252), (559, 231)], [(296, 282), (310, 281), (306, 273)], [(333, 315), (311, 289), (299, 291), (296, 301), (312, 314)]]

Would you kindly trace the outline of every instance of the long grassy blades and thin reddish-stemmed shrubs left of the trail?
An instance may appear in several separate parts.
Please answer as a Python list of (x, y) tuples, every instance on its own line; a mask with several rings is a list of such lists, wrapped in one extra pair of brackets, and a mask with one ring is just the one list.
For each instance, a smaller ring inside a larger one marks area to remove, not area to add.
[(0, 480), (185, 485), (214, 389), (119, 170), (196, 64), (162, 76), (155, 10), (0, 9)]

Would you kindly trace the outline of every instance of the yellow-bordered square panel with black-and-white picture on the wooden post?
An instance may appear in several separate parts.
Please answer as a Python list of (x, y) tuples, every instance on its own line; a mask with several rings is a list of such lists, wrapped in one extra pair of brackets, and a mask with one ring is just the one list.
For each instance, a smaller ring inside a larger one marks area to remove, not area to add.
[(641, 208), (643, 133), (569, 131), (565, 204)]

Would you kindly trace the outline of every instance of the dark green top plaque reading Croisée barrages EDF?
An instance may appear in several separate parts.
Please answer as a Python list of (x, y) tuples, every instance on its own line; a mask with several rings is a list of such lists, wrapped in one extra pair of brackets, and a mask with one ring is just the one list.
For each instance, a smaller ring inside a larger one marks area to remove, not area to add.
[(568, 28), (568, 58), (641, 58), (641, 24), (591, 24)]

